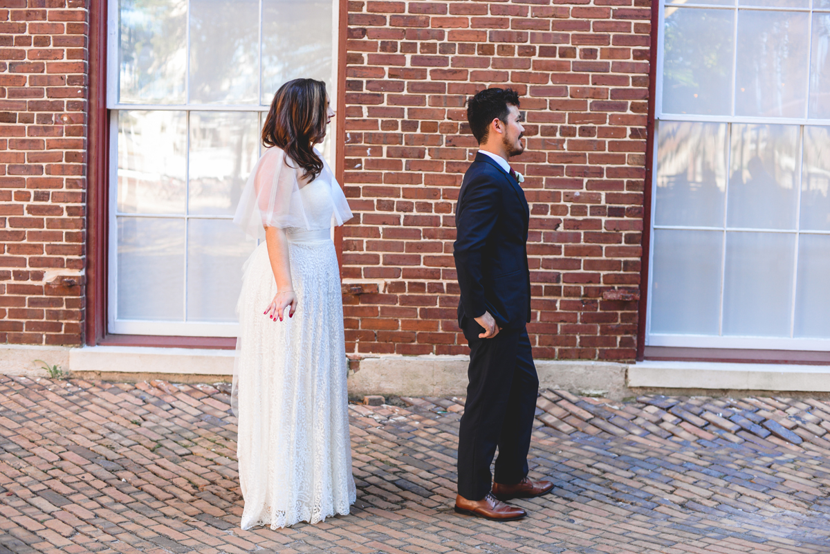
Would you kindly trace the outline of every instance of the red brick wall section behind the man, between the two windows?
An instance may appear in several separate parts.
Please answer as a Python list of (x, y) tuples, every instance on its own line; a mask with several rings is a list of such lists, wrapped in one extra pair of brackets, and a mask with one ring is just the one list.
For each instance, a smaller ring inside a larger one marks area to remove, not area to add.
[(476, 152), (464, 100), (527, 110), (535, 356), (631, 360), (645, 173), (648, 0), (349, 2), (347, 352), (465, 353), (453, 211)]

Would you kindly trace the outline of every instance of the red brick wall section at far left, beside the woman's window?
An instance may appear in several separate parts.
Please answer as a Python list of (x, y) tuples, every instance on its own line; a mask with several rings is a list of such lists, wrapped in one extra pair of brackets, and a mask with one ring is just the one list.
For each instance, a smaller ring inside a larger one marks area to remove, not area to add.
[(0, 2), (0, 343), (81, 343), (86, 21)]

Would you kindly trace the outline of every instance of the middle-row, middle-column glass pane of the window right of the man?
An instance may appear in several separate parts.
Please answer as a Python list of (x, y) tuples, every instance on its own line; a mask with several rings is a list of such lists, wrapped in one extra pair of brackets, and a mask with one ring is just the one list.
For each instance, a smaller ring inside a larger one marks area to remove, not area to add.
[(727, 226), (795, 229), (797, 125), (732, 125)]

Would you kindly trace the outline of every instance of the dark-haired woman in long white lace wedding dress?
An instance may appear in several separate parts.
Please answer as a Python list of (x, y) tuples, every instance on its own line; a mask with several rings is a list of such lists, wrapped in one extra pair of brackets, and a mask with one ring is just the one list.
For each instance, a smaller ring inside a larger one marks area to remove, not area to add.
[(355, 499), (330, 235), (352, 213), (314, 148), (333, 115), (323, 81), (296, 79), (277, 90), (262, 129), (266, 151), (233, 220), (265, 239), (243, 268), (237, 304), (232, 396), (242, 529), (320, 522), (348, 514)]

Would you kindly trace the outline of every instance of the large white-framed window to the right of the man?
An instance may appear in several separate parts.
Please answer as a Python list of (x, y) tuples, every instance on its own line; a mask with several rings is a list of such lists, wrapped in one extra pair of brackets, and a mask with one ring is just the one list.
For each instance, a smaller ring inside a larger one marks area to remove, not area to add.
[(660, 9), (647, 345), (830, 350), (830, 0)]

